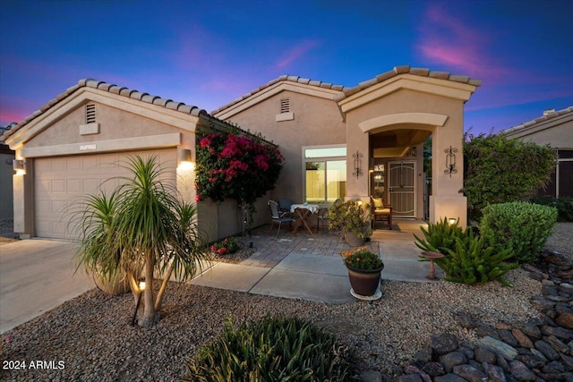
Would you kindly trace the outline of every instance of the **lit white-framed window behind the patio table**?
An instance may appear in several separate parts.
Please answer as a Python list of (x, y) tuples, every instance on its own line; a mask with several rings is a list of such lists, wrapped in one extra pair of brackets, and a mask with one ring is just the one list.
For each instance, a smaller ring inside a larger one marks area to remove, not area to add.
[(346, 147), (303, 148), (304, 200), (333, 203), (346, 195)]

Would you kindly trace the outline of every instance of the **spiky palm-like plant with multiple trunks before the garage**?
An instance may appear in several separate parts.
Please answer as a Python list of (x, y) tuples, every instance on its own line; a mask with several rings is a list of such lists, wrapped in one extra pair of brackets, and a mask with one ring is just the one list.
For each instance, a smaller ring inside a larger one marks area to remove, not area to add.
[[(164, 173), (157, 157), (129, 157), (124, 164), (133, 177), (122, 177), (109, 196), (90, 196), (82, 206), (80, 264), (87, 270), (111, 278), (124, 272), (133, 296), (141, 293), (137, 279), (142, 275), (141, 327), (150, 327), (173, 272), (181, 280), (195, 274), (210, 251), (196, 222), (194, 205), (177, 199), (175, 186), (161, 182)], [(163, 280), (155, 294), (155, 275)]]

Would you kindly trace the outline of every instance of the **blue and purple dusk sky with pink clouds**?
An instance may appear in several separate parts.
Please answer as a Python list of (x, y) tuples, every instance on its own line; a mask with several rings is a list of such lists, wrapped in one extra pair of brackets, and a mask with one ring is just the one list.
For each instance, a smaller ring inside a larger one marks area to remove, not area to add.
[(355, 86), (409, 64), (483, 81), (465, 128), (573, 106), (573, 1), (0, 1), (0, 125), (83, 78), (212, 111), (282, 74)]

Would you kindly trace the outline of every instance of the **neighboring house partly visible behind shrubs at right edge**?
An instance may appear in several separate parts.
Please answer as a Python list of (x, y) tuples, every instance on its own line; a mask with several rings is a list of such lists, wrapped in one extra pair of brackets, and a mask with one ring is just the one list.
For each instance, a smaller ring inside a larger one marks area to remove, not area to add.
[(573, 106), (545, 110), (533, 121), (500, 132), (509, 139), (550, 145), (557, 151), (558, 163), (552, 181), (541, 195), (573, 198)]

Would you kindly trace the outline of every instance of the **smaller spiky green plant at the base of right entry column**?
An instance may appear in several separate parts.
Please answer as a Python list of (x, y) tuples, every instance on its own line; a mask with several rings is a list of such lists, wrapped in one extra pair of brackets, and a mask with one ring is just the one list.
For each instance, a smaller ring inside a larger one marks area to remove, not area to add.
[(462, 230), (458, 223), (450, 225), (446, 217), (438, 223), (430, 223), (427, 230), (423, 227), (420, 230), (425, 240), (414, 234), (415, 245), (421, 250), (441, 252), (444, 255), (448, 254), (448, 250), (456, 248), (457, 237), (462, 239), (467, 236), (467, 230)]

